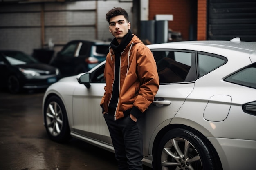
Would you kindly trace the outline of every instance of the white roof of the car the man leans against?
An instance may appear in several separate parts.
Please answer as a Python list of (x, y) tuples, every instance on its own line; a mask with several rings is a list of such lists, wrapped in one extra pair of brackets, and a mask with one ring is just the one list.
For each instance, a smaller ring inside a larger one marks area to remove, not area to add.
[(241, 42), (241, 41), (183, 41), (183, 42), (169, 42), (163, 44), (152, 44), (148, 45), (150, 49), (190, 49), (204, 51), (204, 48), (220, 48), (220, 49), (231, 49), (234, 51), (247, 51), (248, 53), (256, 52), (256, 42)]

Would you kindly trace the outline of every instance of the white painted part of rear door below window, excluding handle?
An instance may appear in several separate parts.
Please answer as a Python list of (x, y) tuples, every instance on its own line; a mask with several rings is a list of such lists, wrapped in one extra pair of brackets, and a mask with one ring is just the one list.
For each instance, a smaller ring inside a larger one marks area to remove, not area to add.
[[(166, 119), (171, 120), (177, 111), (180, 109), (186, 97), (193, 91), (193, 83), (163, 85), (159, 87), (155, 100), (161, 99), (170, 101), (169, 105), (155, 105), (154, 102), (148, 108), (145, 115), (145, 123), (143, 127), (143, 154), (146, 156), (152, 154), (150, 152), (150, 144), (154, 141), (155, 136), (152, 132), (157, 134), (159, 131), (157, 127), (160, 126)], [(171, 96), (171, 97), (170, 97)], [(152, 124), (154, 122), (154, 124)], [(151, 144), (152, 146), (152, 144)]]

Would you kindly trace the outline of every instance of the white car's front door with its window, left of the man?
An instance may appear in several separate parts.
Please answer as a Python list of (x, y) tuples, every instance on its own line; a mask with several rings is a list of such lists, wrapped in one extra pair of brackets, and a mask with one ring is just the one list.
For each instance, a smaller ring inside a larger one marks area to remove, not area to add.
[(91, 73), (90, 88), (78, 86), (74, 91), (74, 127), (75, 131), (85, 137), (112, 144), (108, 127), (100, 107), (104, 95), (104, 64)]

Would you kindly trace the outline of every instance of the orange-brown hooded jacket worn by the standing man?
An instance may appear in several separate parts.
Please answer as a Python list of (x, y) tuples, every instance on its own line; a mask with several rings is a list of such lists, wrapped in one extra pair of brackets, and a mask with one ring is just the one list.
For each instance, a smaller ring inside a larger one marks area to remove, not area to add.
[(104, 71), (105, 93), (100, 105), (108, 113), (111, 97), (118, 97), (115, 119), (120, 119), (124, 117), (123, 111), (134, 106), (141, 112), (148, 108), (158, 91), (159, 77), (152, 52), (134, 35), (121, 53), (119, 96), (112, 96), (115, 57), (120, 56), (115, 56), (110, 49)]

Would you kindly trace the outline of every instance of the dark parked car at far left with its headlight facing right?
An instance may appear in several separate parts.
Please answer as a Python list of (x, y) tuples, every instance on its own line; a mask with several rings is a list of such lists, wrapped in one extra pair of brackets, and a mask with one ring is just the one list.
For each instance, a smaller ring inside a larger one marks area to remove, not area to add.
[(43, 89), (60, 78), (58, 68), (38, 62), (22, 51), (0, 50), (0, 86), (10, 93)]

